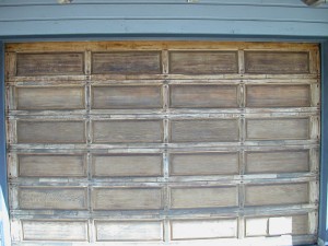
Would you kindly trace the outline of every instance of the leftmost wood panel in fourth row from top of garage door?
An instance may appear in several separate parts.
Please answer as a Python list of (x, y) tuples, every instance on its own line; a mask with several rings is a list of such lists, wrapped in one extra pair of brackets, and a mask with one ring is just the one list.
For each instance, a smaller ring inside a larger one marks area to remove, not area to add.
[(82, 177), (86, 176), (84, 155), (19, 154), (20, 177)]

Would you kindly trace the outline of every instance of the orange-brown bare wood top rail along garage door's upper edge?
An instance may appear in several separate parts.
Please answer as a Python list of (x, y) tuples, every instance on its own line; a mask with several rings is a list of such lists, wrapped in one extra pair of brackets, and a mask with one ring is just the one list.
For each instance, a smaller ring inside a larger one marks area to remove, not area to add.
[(36, 42), (36, 43), (11, 43), (5, 44), (8, 51), (83, 51), (85, 49), (92, 51), (98, 50), (162, 50), (162, 49), (179, 49), (179, 50), (237, 50), (237, 49), (255, 49), (255, 50), (317, 50), (316, 43), (260, 43), (260, 42), (213, 42), (213, 40), (105, 40), (105, 42)]

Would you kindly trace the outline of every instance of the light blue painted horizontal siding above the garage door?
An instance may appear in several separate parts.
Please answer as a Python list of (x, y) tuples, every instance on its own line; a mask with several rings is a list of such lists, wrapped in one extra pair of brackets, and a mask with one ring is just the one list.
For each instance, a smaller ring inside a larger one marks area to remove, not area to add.
[(0, 1), (0, 37), (28, 35), (328, 36), (328, 5), (300, 0)]

